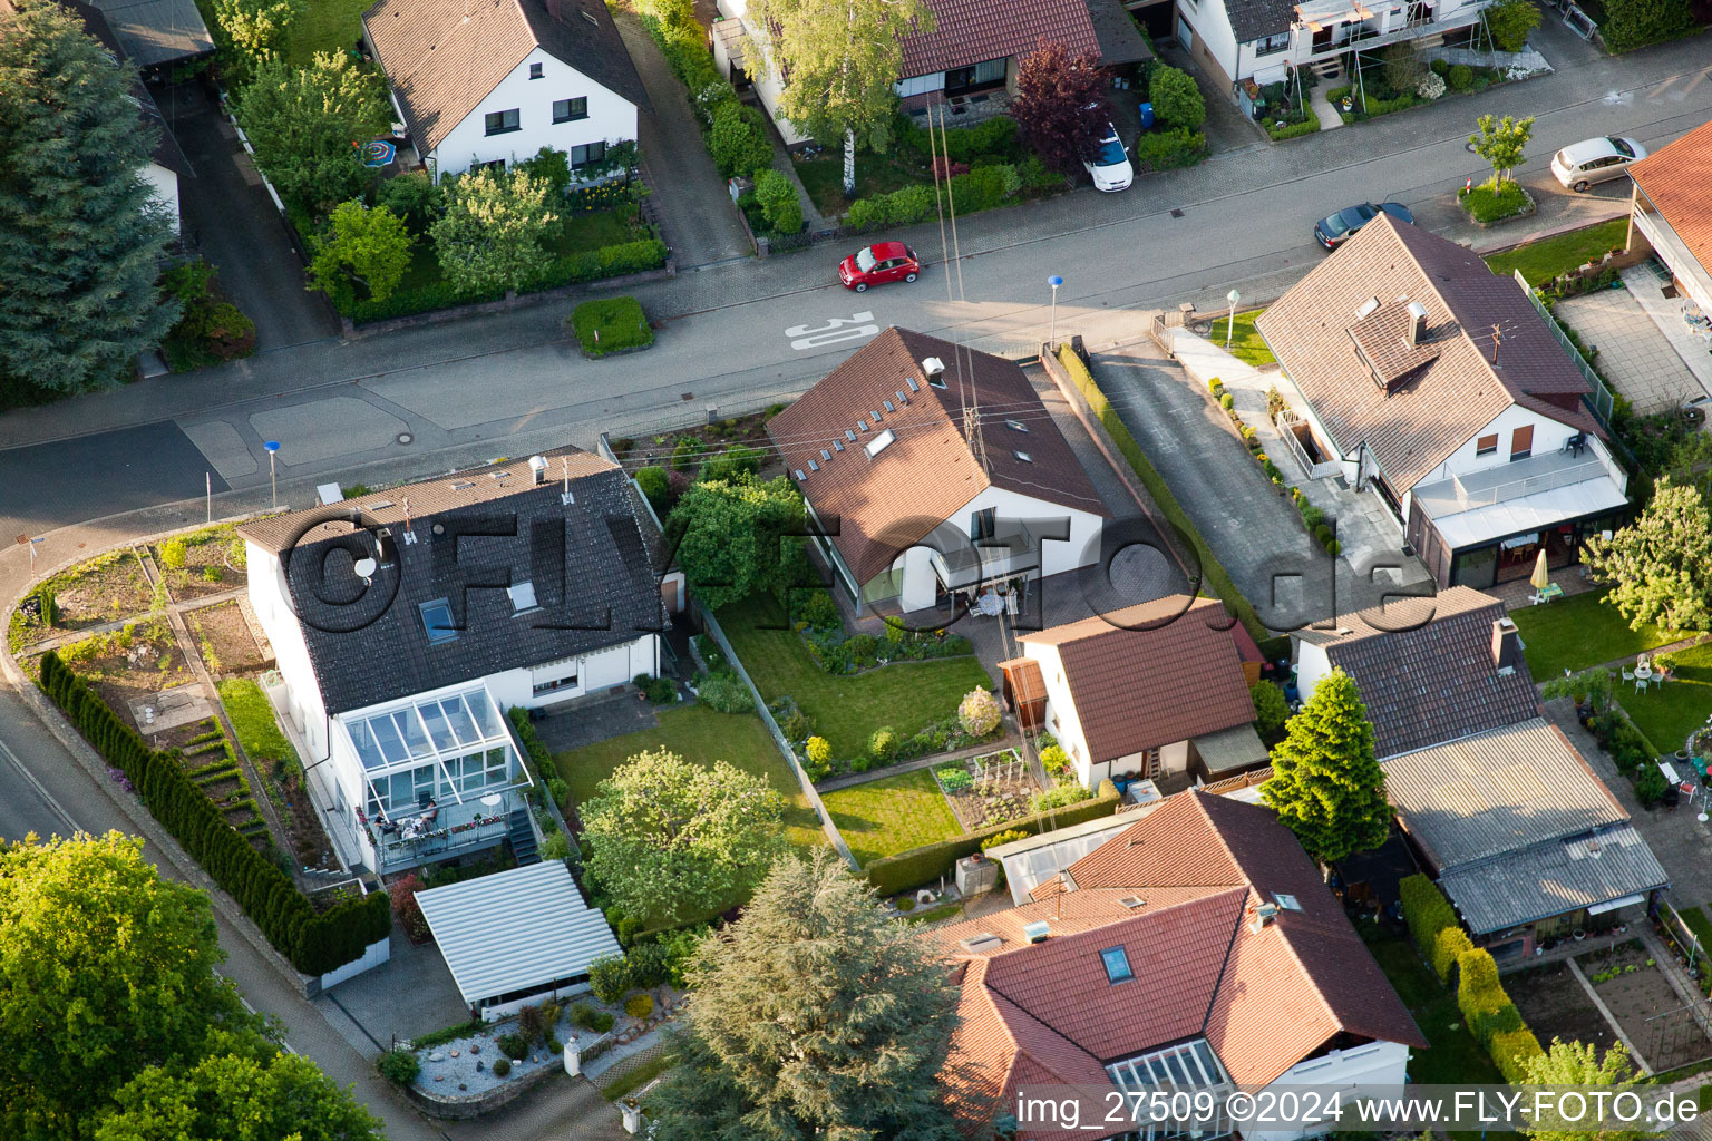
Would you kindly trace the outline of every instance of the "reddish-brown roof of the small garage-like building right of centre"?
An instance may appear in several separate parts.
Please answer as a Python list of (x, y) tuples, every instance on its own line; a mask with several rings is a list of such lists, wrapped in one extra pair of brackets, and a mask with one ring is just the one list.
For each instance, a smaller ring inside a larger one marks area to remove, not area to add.
[(1017, 640), (1056, 647), (1097, 765), (1255, 720), (1233, 626), (1217, 599), (1168, 595)]

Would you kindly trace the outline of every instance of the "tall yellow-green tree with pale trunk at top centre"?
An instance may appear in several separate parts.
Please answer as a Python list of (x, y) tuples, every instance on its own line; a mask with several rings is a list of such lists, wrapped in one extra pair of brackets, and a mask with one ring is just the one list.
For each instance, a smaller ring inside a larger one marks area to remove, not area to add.
[(788, 77), (779, 111), (815, 139), (844, 140), (844, 195), (856, 195), (856, 144), (892, 145), (892, 86), (904, 36), (935, 29), (926, 0), (752, 0), (745, 24), (762, 63)]

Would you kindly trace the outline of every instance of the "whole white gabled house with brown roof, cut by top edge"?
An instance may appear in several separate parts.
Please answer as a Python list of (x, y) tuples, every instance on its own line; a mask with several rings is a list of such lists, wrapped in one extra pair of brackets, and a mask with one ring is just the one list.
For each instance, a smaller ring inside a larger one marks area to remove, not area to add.
[(541, 147), (587, 169), (635, 140), (649, 106), (601, 0), (380, 0), (363, 36), (435, 178)]

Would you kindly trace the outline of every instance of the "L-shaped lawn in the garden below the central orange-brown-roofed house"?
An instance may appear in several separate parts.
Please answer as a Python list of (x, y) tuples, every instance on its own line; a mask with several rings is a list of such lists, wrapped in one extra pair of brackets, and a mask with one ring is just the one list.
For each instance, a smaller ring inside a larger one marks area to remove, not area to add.
[(769, 703), (786, 693), (796, 698), (815, 718), (815, 732), (832, 746), (832, 756), (861, 756), (875, 729), (890, 727), (909, 737), (955, 713), (971, 689), (993, 684), (974, 657), (894, 662), (834, 677), (815, 665), (796, 631), (757, 630), (784, 626), (784, 612), (770, 595), (728, 606), (719, 624), (762, 696)]

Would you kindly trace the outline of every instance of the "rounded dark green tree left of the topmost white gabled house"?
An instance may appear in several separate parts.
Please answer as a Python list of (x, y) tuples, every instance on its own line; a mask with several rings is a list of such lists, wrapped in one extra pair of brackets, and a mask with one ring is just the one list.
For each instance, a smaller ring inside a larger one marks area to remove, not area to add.
[(332, 51), (308, 67), (262, 62), (236, 111), (257, 164), (281, 195), (312, 212), (356, 198), (375, 181), (361, 145), (392, 121), (380, 77)]

